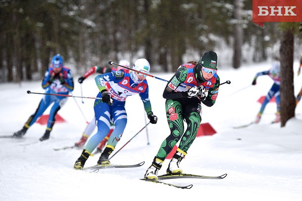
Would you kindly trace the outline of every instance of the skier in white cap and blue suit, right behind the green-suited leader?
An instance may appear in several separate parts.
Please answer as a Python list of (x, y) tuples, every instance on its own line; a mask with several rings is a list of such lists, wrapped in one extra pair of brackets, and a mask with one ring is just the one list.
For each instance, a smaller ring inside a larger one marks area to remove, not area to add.
[[(134, 63), (133, 69), (149, 74), (150, 64), (146, 59), (140, 58)], [(98, 75), (95, 80), (100, 90), (97, 98), (101, 98), (101, 100), (96, 99), (94, 104), (98, 132), (87, 142), (81, 156), (74, 164), (75, 169), (83, 169), (86, 160), (92, 155), (92, 151), (108, 135), (111, 122), (115, 125), (115, 128), (98, 160), (98, 164), (100, 165), (110, 164), (108, 157), (120, 140), (127, 124), (127, 113), (125, 110), (127, 97), (139, 94), (150, 122), (152, 124), (157, 122), (157, 117), (153, 115), (151, 110), (146, 75), (122, 69)]]

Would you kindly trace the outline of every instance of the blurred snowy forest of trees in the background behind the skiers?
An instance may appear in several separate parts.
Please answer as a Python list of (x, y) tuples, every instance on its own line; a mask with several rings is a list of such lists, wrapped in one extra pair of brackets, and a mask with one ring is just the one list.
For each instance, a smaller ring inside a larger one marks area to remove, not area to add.
[(252, 0), (1, 0), (0, 38), (0, 82), (20, 82), (40, 80), (55, 53), (73, 74), (140, 57), (172, 72), (208, 50), (239, 68), (278, 56), (281, 32), (252, 23)]

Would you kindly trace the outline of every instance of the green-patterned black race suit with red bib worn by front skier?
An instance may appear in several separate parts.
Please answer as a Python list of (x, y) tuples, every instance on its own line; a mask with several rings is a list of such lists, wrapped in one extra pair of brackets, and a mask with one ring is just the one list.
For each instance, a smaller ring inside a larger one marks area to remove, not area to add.
[[(165, 108), (170, 135), (162, 142), (156, 154), (157, 160), (163, 162), (179, 140), (177, 151), (186, 155), (201, 123), (201, 102), (208, 107), (215, 103), (220, 84), (219, 77), (214, 74), (212, 78), (205, 80), (201, 75), (200, 72), (197, 73), (197, 66), (194, 64), (182, 64), (166, 85), (163, 98), (166, 99)], [(201, 85), (206, 89), (205, 100), (201, 101), (198, 97), (189, 98), (186, 91)], [(184, 120), (187, 123), (186, 131), (184, 131)]]

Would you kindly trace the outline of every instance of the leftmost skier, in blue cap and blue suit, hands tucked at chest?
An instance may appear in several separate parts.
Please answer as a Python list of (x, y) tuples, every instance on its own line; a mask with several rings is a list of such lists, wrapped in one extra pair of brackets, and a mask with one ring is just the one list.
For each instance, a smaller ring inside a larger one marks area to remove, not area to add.
[[(45, 72), (42, 88), (45, 89), (47, 94), (60, 94), (68, 95), (73, 91), (73, 77), (70, 69), (63, 66), (63, 59), (60, 54), (53, 56), (51, 61), (51, 67)], [(13, 134), (15, 138), (21, 138), (25, 135), (28, 128), (32, 126), (36, 120), (45, 112), (45, 110), (53, 103), (50, 109), (50, 115), (47, 122), (47, 128), (45, 134), (40, 138), (40, 141), (44, 141), (50, 138), (50, 131), (55, 122), (56, 113), (64, 106), (67, 101), (67, 97), (44, 95), (39, 103), (39, 106), (34, 114), (25, 122), (23, 128)]]

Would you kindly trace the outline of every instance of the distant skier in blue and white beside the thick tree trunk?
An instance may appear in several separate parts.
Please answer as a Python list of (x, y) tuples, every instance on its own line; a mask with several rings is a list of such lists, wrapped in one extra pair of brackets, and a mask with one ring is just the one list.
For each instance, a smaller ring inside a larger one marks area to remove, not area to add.
[(258, 76), (261, 75), (268, 75), (273, 81), (274, 84), (272, 85), (272, 87), (270, 88), (270, 90), (268, 91), (265, 100), (262, 102), (262, 105), (260, 107), (260, 110), (256, 116), (256, 119), (254, 121), (254, 123), (259, 123), (262, 113), (266, 107), (266, 104), (275, 96), (275, 100), (277, 103), (277, 113), (276, 113), (276, 118), (274, 121), (272, 121), (272, 123), (278, 123), (280, 121), (280, 114), (281, 114), (281, 110), (280, 110), (280, 63), (273, 63), (272, 67), (267, 70), (267, 71), (262, 71), (262, 72), (258, 72), (253, 81), (252, 81), (252, 85), (256, 85), (256, 80)]

